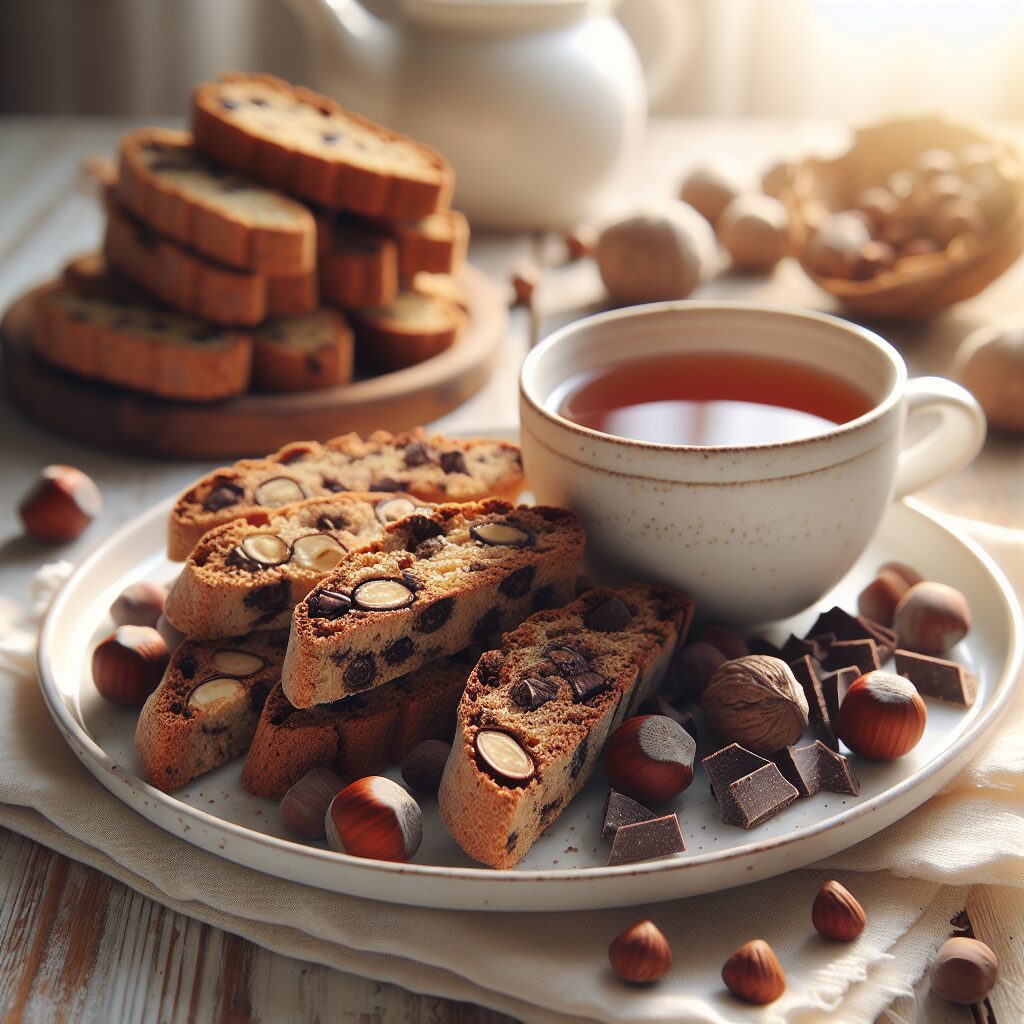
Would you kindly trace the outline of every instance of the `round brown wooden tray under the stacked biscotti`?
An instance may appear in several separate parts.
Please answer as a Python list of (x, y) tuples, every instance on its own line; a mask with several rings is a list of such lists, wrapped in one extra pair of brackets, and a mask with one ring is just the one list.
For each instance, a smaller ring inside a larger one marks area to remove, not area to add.
[(497, 361), (508, 322), (501, 289), (467, 266), (469, 325), (447, 351), (407, 370), (342, 387), (245, 394), (211, 404), (171, 401), (83, 380), (32, 351), (33, 302), (23, 295), (0, 321), (3, 382), (11, 403), (37, 423), (114, 452), (168, 459), (258, 456), (296, 437), (326, 440), (354, 430), (401, 430), (451, 412), (475, 394)]

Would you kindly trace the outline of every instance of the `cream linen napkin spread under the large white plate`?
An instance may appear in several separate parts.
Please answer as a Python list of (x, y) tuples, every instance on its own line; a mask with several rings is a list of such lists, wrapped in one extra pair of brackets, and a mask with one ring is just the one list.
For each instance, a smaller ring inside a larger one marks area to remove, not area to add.
[[(982, 540), (998, 558), (993, 549), (1002, 542)], [(1012, 537), (1002, 541), (1020, 559), (1024, 548)], [(66, 572), (44, 568), (41, 594)], [(32, 675), (33, 615), (20, 625), (13, 616), (0, 605), (0, 655), (9, 667), (0, 679), (0, 824), (267, 948), (414, 991), (552, 1024), (806, 1024), (823, 1012), (870, 1024), (910, 993), (948, 936), (967, 886), (1024, 886), (1018, 697), (1018, 714), (1008, 713), (1002, 731), (946, 790), (816, 870), (668, 903), (549, 914), (430, 910), (326, 893), (191, 847), (94, 781), (60, 739)], [(811, 901), (826, 878), (838, 878), (864, 906), (867, 927), (854, 943), (829, 943), (811, 929)], [(611, 974), (607, 945), (644, 916), (668, 936), (675, 966), (656, 986), (636, 988)], [(732, 950), (755, 937), (772, 945), (787, 975), (785, 994), (765, 1008), (735, 1001), (719, 978)]]

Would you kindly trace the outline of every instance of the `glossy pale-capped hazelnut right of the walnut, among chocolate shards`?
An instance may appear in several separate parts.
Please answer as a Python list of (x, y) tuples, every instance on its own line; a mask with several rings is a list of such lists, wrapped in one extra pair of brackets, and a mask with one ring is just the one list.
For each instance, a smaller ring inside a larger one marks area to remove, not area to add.
[(925, 701), (908, 679), (891, 672), (868, 672), (846, 691), (836, 735), (854, 754), (894, 761), (918, 745), (927, 720)]

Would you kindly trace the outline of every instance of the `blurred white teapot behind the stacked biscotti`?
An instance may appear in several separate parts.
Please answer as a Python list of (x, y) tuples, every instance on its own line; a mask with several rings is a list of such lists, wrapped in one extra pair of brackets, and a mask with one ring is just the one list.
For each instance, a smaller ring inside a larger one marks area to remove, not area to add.
[(454, 205), (477, 226), (583, 219), (686, 35), (685, 0), (632, 0), (659, 19), (644, 26), (657, 40), (645, 81), (614, 0), (288, 2), (317, 88), (444, 154)]

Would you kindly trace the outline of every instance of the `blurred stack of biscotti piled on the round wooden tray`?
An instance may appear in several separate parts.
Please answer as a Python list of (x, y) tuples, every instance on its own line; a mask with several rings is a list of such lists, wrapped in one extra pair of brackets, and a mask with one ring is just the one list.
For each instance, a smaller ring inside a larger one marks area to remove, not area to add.
[(373, 372), (429, 358), (466, 324), (451, 288), (421, 290), (465, 260), (453, 183), (440, 155), (306, 89), (200, 85), (191, 131), (122, 138), (102, 256), (38, 298), (38, 354), (187, 401), (347, 383), (356, 343)]

